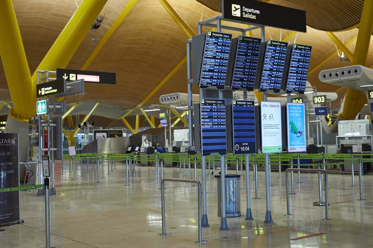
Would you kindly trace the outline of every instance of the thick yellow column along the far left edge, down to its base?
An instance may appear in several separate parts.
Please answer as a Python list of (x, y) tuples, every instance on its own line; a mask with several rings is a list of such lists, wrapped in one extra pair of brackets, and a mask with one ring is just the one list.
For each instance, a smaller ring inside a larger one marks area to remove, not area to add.
[(28, 122), (31, 109), (36, 115), (36, 83), (31, 79), (12, 0), (0, 1), (0, 16), (0, 57), (13, 101), (9, 115)]

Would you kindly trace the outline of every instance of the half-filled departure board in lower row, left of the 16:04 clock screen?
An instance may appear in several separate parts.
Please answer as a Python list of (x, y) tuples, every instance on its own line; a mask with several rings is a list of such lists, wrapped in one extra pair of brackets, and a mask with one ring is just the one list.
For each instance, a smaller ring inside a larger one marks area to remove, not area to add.
[(225, 100), (201, 99), (202, 156), (226, 155)]

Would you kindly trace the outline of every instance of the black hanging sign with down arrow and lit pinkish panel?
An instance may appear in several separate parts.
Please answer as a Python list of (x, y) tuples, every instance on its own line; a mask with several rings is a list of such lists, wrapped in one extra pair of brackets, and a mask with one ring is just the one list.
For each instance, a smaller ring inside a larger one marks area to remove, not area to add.
[(66, 81), (84, 79), (84, 83), (93, 84), (116, 84), (116, 74), (102, 71), (82, 71), (60, 69), (56, 70), (57, 78), (64, 78)]

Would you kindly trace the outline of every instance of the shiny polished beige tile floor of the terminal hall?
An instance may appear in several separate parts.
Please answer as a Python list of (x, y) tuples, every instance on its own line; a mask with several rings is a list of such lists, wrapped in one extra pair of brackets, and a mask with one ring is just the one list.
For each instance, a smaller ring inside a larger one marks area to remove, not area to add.
[[(137, 167), (129, 186), (125, 184), (125, 167), (116, 164), (110, 175), (96, 183), (97, 174), (90, 164), (75, 170), (75, 181), (65, 166), (56, 170), (57, 195), (50, 197), (51, 246), (56, 248), (90, 247), (373, 247), (373, 177), (364, 176), (364, 202), (358, 201), (359, 189), (352, 188), (351, 176), (329, 174), (329, 216), (325, 207), (313, 206), (318, 200), (317, 174), (302, 174), (303, 184), (295, 183), (297, 193), (290, 199), (291, 216), (286, 213), (285, 174), (272, 172), (271, 207), (273, 224), (264, 223), (266, 213), (264, 172), (258, 172), (259, 197), (251, 200), (254, 220), (244, 219), (246, 210), (245, 177), (241, 180), (242, 216), (227, 218), (229, 231), (219, 231), (217, 216), (217, 182), (207, 175), (207, 211), (210, 227), (202, 229), (205, 244), (197, 241), (197, 187), (185, 183), (166, 183), (166, 231), (162, 232), (160, 185), (154, 167)], [(101, 171), (100, 171), (101, 173)], [(188, 169), (186, 170), (188, 174)], [(229, 173), (235, 171), (229, 170)], [(200, 179), (201, 170), (197, 169)], [(252, 171), (250, 171), (252, 179)], [(180, 178), (179, 168), (164, 168), (164, 177)], [(188, 178), (187, 175), (186, 178)], [(192, 178), (194, 171), (192, 170)], [(184, 177), (183, 177), (184, 178)], [(295, 174), (295, 182), (297, 176)], [(355, 175), (358, 185), (358, 176)], [(251, 183), (251, 198), (254, 184)], [(45, 247), (44, 197), (36, 191), (21, 192), (23, 224), (2, 226), (1, 248)], [(325, 234), (322, 234), (325, 233)], [(308, 235), (317, 235), (305, 237)], [(300, 238), (300, 239), (297, 239)], [(297, 239), (297, 240), (292, 240)]]

